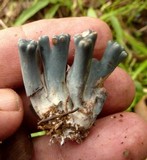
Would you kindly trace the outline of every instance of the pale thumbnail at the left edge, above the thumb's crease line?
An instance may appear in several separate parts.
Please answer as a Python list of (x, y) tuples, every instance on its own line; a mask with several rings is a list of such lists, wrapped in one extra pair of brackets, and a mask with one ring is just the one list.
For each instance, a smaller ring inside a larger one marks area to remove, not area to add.
[(12, 89), (0, 89), (0, 111), (18, 111), (20, 99)]

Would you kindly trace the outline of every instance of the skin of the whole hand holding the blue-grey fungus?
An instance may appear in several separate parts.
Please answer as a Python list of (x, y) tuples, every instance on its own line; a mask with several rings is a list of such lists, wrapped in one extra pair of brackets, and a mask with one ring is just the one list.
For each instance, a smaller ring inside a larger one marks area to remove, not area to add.
[[(37, 122), (23, 88), (18, 39), (37, 40), (41, 35), (52, 37), (61, 33), (69, 33), (73, 37), (88, 29), (98, 33), (94, 57), (101, 58), (112, 35), (108, 25), (99, 19), (80, 17), (40, 20), (0, 31), (0, 141), (13, 135), (22, 121), (28, 128), (35, 128)], [(71, 38), (69, 64), (73, 61), (73, 54)], [(101, 118), (84, 142), (49, 146), (49, 137), (34, 138), (32, 160), (142, 160), (147, 156), (146, 122), (135, 113), (122, 112), (131, 104), (135, 94), (130, 76), (116, 68), (104, 85), (108, 98)]]

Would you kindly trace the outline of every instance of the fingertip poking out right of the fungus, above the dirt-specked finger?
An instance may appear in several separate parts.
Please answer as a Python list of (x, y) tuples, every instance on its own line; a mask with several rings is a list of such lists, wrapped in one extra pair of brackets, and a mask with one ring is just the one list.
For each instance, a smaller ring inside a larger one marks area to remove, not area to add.
[(105, 81), (104, 87), (107, 90), (107, 99), (101, 116), (126, 110), (134, 99), (134, 82), (121, 68), (115, 69)]

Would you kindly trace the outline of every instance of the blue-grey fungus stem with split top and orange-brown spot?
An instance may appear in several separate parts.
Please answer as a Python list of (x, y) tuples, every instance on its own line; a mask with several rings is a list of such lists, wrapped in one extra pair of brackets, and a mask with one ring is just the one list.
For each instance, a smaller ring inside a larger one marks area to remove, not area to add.
[(54, 91), (61, 94), (63, 92), (69, 41), (69, 35), (54, 36), (52, 38), (53, 47), (50, 49), (47, 36), (39, 40), (48, 93)]

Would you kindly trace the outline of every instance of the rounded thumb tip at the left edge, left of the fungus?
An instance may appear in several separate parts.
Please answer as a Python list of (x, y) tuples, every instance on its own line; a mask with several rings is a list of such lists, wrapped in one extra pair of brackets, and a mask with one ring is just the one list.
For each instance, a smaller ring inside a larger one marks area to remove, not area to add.
[(0, 141), (12, 135), (23, 117), (22, 101), (11, 89), (0, 89)]

